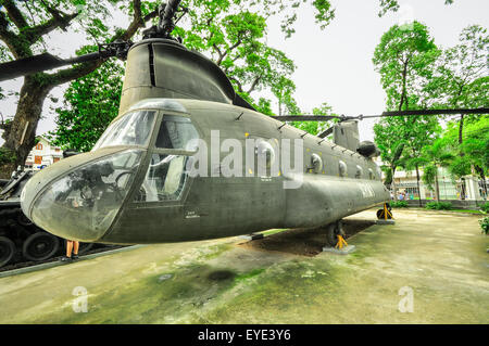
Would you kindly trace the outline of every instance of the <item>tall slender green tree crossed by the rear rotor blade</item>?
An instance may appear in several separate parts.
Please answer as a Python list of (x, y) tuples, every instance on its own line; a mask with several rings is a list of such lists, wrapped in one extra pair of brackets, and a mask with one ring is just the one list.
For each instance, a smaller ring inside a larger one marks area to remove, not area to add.
[[(394, 25), (383, 35), (373, 62), (380, 73), (388, 110), (416, 110), (429, 104), (425, 89), (439, 54), (428, 28), (418, 22), (408, 27)], [(374, 126), (375, 141), (381, 159), (387, 164), (384, 169), (389, 170), (385, 181), (387, 185), (392, 182), (410, 139), (429, 137), (428, 128), (423, 127), (424, 121), (427, 118), (423, 116), (387, 117)]]

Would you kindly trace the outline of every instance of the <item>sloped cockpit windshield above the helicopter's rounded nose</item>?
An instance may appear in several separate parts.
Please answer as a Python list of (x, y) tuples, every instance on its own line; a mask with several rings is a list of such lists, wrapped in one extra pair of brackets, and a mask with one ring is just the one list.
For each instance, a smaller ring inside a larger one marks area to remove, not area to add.
[(147, 145), (155, 118), (154, 111), (135, 111), (113, 123), (92, 151), (115, 145)]

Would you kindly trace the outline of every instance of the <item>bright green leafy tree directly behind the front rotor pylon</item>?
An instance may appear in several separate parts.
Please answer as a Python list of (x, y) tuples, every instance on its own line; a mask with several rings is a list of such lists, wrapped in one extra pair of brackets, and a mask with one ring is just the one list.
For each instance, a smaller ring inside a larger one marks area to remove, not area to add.
[[(292, 86), (290, 75), (296, 66), (286, 54), (266, 44), (266, 17), (260, 13), (248, 10), (242, 11), (229, 0), (218, 1), (190, 1), (193, 3), (189, 12), (189, 22), (175, 29), (175, 34), (184, 39), (189, 48), (206, 53), (231, 80), (236, 91), (250, 101), (251, 95), (264, 88), (273, 89), (276, 86), (287, 88)], [(261, 0), (269, 3), (277, 1)], [(197, 7), (200, 5), (200, 7)], [(265, 15), (271, 15), (268, 9)], [(263, 11), (262, 11), (263, 12)]]

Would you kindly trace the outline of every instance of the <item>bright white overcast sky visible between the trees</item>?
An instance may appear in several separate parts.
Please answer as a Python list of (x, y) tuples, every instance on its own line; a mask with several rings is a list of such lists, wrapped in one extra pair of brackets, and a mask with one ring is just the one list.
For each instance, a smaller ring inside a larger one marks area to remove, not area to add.
[[(299, 9), (296, 34), (289, 39), (280, 31), (278, 20), (271, 18), (267, 22), (268, 44), (284, 51), (297, 66), (292, 75), (297, 86), (294, 98), (303, 112), (311, 112), (323, 102), (333, 106), (335, 113), (350, 116), (380, 114), (385, 111), (386, 94), (372, 57), (383, 34), (394, 24), (411, 20), (424, 23), (439, 48), (455, 46), (464, 27), (473, 24), (489, 27), (487, 0), (455, 0), (451, 5), (444, 5), (444, 0), (400, 0), (400, 11), (390, 12), (384, 17), (377, 15), (378, 0), (331, 0), (331, 3), (336, 9), (336, 17), (323, 30), (314, 23), (314, 9), (309, 4)], [(114, 17), (114, 21), (124, 18)], [(67, 57), (74, 55), (83, 38), (75, 34), (59, 33), (52, 35), (51, 41), (53, 47), (58, 47), (51, 53)], [(0, 82), (0, 87), (18, 91), (22, 80), (17, 78)], [(50, 93), (60, 100), (58, 103), (53, 104), (49, 100), (45, 102), (37, 134), (54, 129), (54, 112), (50, 108), (61, 105), (66, 86), (58, 87)], [(13, 115), (15, 107), (15, 97), (0, 101), (3, 117)], [(360, 121), (361, 140), (374, 139), (375, 121)], [(0, 144), (2, 142), (0, 139)]]

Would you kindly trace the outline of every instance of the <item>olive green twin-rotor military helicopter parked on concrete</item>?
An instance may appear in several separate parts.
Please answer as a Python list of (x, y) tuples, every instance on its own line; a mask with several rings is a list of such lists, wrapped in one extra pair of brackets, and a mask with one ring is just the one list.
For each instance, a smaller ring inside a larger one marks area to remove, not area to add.
[[(373, 161), (377, 148), (360, 143), (354, 118), (337, 117), (340, 123), (316, 137), (284, 123), (287, 117), (256, 112), (217, 65), (171, 36), (178, 10), (185, 13), (179, 3), (160, 5), (159, 24), (137, 43), (0, 66), (1, 80), (127, 55), (118, 116), (91, 152), (60, 161), (27, 182), (24, 214), (58, 236), (82, 242), (183, 242), (329, 225), (328, 241), (336, 245), (342, 218), (390, 200)], [(325, 139), (330, 132), (334, 142)], [(215, 150), (216, 140), (233, 145)], [(300, 145), (287, 149), (287, 141)], [(223, 165), (231, 148), (246, 165)], [(277, 169), (285, 157), (299, 167)], [(197, 163), (200, 175), (192, 174)]]

